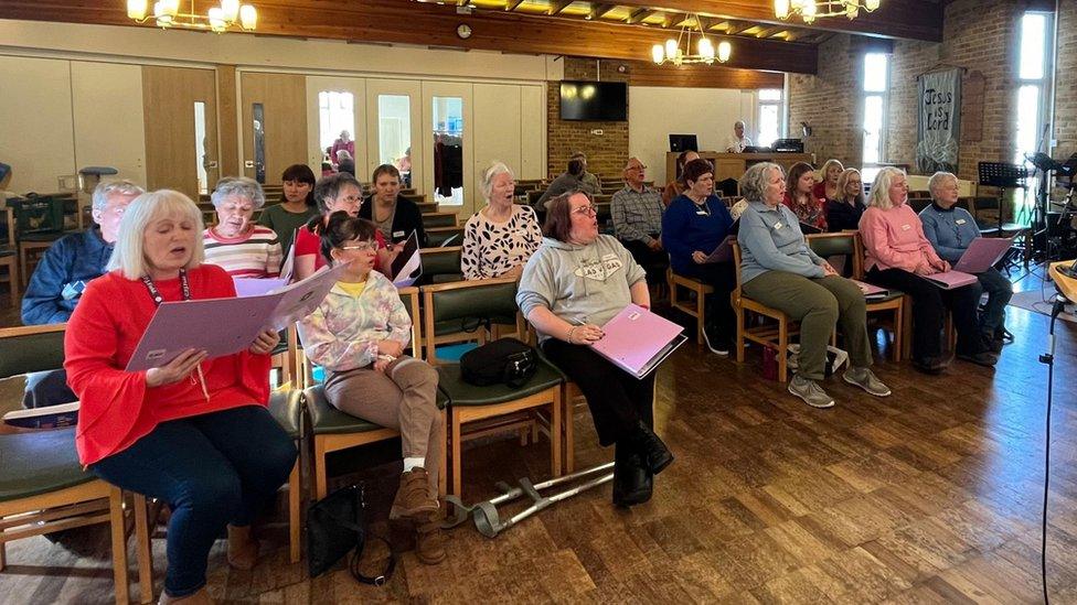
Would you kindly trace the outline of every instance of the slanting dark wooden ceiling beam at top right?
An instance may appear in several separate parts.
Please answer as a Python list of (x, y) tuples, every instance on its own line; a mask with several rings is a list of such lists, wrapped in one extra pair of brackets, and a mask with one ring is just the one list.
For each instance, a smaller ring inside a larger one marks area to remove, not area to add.
[(769, 0), (618, 0), (622, 7), (644, 7), (668, 11), (703, 13), (722, 19), (751, 21), (845, 32), (861, 35), (942, 42), (942, 4), (934, 0), (882, 0), (875, 12), (861, 11), (850, 21), (844, 17), (818, 19), (811, 25), (799, 18), (782, 21), (775, 17)]

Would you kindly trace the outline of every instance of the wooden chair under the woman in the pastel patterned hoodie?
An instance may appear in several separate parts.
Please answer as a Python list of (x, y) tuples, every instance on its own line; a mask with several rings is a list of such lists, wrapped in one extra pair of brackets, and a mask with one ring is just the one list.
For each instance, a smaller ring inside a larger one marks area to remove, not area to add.
[[(412, 316), (412, 352), (418, 357), (420, 327), (418, 290), (415, 288), (404, 288), (401, 290), (401, 300)], [(447, 400), (439, 392), (438, 407), (445, 407)], [(326, 458), (331, 452), (359, 447), (394, 439), (399, 433), (393, 429), (387, 429), (373, 422), (367, 422), (361, 418), (341, 412), (333, 408), (326, 399), (326, 391), (321, 385), (316, 385), (303, 391), (303, 402), (310, 419), (310, 432), (313, 441), (313, 475), (314, 475), (314, 498), (321, 499), (329, 494), (329, 478)], [(434, 446), (435, 444), (430, 444)], [(441, 445), (441, 444), (439, 444)], [(445, 486), (446, 467), (442, 457), (440, 469), (439, 494), (446, 493)]]

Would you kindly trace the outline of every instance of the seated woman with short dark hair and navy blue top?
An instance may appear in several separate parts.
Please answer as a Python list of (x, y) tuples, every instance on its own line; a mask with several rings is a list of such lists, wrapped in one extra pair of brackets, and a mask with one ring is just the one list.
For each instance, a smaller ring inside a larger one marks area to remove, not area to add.
[(736, 332), (736, 315), (729, 293), (737, 287), (732, 262), (707, 262), (731, 235), (733, 217), (714, 195), (714, 169), (706, 160), (693, 160), (682, 174), (686, 188), (662, 217), (662, 242), (670, 251), (670, 266), (679, 276), (697, 278), (714, 289), (707, 294), (703, 338), (717, 355), (729, 355)]

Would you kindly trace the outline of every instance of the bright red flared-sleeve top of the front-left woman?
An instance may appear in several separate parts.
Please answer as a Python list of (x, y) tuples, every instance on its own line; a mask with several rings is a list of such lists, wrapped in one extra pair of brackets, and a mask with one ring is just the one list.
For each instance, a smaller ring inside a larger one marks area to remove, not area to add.
[[(228, 273), (215, 264), (188, 272), (192, 299), (235, 296)], [(166, 301), (183, 300), (180, 280), (153, 282)], [(202, 361), (206, 400), (192, 377), (146, 386), (146, 371), (126, 371), (128, 360), (157, 312), (146, 285), (113, 271), (89, 282), (67, 323), (64, 368), (82, 402), (75, 446), (89, 465), (121, 452), (159, 423), (269, 400), (269, 356), (236, 353)]]

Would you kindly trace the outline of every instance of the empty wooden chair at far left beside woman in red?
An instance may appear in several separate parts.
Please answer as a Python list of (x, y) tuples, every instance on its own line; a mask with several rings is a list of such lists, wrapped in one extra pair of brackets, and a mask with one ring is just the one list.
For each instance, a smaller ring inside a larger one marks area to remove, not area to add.
[[(0, 329), (0, 379), (63, 366), (65, 324)], [(75, 430), (0, 434), (0, 571), (7, 542), (108, 523), (116, 603), (129, 601), (127, 536), (120, 489), (83, 469)], [(142, 580), (142, 599), (152, 593)], [(152, 598), (152, 594), (149, 595)]]

